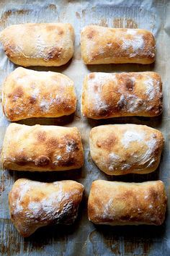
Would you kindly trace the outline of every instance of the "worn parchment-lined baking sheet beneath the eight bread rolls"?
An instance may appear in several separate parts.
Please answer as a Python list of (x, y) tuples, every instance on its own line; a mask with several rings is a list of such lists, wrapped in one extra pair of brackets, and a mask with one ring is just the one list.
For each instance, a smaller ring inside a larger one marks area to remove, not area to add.
[[(68, 172), (29, 173), (1, 170), (0, 176), (0, 249), (1, 255), (170, 255), (170, 216), (162, 226), (94, 226), (87, 218), (86, 204), (91, 182), (95, 179), (143, 182), (161, 179), (169, 195), (170, 181), (170, 1), (0, 1), (0, 30), (23, 22), (70, 22), (76, 33), (74, 56), (63, 67), (34, 67), (68, 75), (75, 82), (78, 106), (75, 115), (59, 119), (27, 119), (20, 124), (53, 124), (76, 126), (84, 144), (85, 164), (81, 170)], [(156, 63), (109, 64), (86, 66), (81, 60), (80, 31), (84, 25), (97, 24), (109, 27), (145, 28), (156, 36)], [(17, 65), (6, 58), (0, 48), (0, 81)], [(107, 120), (88, 120), (81, 116), (80, 98), (84, 75), (89, 72), (140, 72), (156, 71), (161, 74), (164, 91), (164, 114), (156, 118), (127, 117)], [(89, 131), (99, 124), (146, 124), (164, 133), (165, 146), (161, 163), (152, 174), (107, 176), (99, 171), (89, 154)], [(0, 113), (0, 144), (9, 122)], [(74, 179), (85, 186), (84, 200), (79, 217), (73, 226), (48, 226), (24, 239), (19, 236), (9, 219), (8, 194), (14, 181), (26, 177), (44, 182)], [(169, 195), (170, 199), (170, 195)]]

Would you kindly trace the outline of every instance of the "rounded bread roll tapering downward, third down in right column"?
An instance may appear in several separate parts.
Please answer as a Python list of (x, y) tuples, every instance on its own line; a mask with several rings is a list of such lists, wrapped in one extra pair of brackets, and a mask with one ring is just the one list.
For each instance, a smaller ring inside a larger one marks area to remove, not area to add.
[(161, 158), (164, 136), (138, 124), (109, 124), (90, 132), (90, 153), (100, 170), (109, 175), (148, 174)]

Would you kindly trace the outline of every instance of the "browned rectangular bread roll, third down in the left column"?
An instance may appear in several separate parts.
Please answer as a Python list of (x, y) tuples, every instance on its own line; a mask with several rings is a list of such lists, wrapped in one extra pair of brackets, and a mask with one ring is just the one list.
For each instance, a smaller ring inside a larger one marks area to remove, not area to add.
[(65, 171), (81, 168), (84, 152), (76, 127), (9, 124), (1, 152), (4, 168)]

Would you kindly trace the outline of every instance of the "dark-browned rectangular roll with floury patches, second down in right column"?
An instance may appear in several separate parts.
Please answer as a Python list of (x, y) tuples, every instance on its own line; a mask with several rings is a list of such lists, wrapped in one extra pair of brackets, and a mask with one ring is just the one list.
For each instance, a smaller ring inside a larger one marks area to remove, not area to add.
[(162, 82), (156, 72), (94, 72), (84, 79), (81, 111), (91, 119), (158, 116), (162, 110)]

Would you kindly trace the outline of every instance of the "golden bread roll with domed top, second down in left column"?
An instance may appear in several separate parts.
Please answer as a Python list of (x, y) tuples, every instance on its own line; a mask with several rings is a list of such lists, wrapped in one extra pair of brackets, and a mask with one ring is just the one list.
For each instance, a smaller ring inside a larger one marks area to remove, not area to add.
[(2, 106), (10, 121), (70, 115), (76, 111), (73, 81), (64, 74), (18, 67), (4, 81)]

